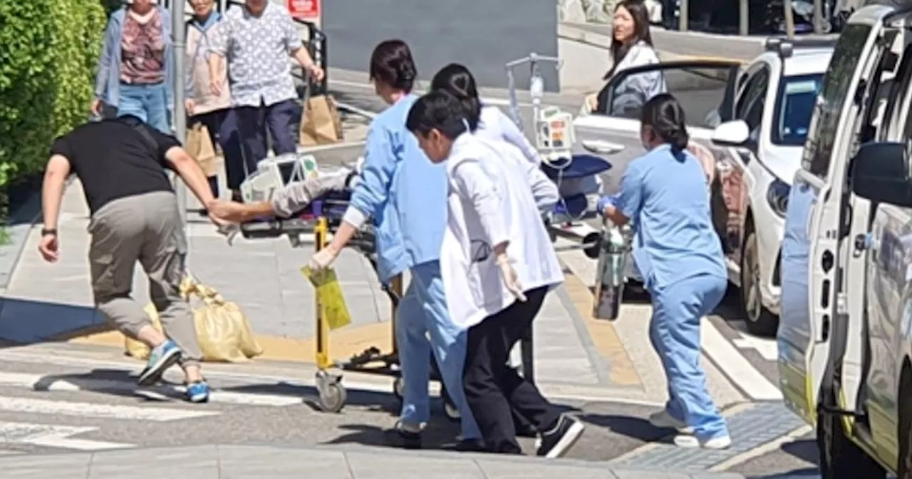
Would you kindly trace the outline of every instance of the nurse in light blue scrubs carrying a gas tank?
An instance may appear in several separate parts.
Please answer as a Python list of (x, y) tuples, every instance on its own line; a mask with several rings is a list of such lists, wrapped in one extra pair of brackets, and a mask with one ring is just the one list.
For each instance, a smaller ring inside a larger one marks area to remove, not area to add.
[(668, 403), (649, 417), (681, 432), (682, 447), (725, 449), (728, 426), (700, 366), (700, 320), (725, 295), (728, 278), (710, 217), (707, 176), (689, 151), (684, 110), (659, 94), (643, 106), (646, 155), (631, 161), (621, 191), (600, 202), (614, 224), (633, 222), (633, 255), (652, 297), (649, 339), (668, 378)]

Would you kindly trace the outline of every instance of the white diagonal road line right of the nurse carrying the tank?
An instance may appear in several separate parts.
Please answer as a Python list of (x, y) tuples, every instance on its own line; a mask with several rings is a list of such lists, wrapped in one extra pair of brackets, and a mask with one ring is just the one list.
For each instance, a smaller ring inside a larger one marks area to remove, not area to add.
[(716, 364), (732, 384), (754, 401), (780, 401), (782, 392), (767, 380), (751, 361), (722, 336), (709, 319), (704, 318), (700, 328), (703, 352)]

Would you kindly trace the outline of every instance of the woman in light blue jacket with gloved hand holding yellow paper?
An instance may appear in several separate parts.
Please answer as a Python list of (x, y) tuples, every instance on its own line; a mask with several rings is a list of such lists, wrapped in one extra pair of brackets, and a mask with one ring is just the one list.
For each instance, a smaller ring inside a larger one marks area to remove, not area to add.
[(364, 169), (350, 205), (332, 242), (311, 258), (310, 266), (323, 269), (332, 264), (361, 225), (372, 219), (379, 280), (387, 284), (394, 276), (411, 273), (394, 318), (404, 390), (399, 421), (387, 433), (389, 443), (421, 447), (421, 431), (430, 420), (428, 379), (433, 352), (443, 385), (460, 410), (462, 442), (457, 448), (481, 450), (482, 433), (462, 388), (466, 333), (450, 318), (440, 278), (447, 172), (428, 161), (405, 126), (418, 99), (412, 93), (418, 70), (409, 46), (402, 40), (380, 42), (370, 57), (368, 75), (389, 108), (371, 121)]

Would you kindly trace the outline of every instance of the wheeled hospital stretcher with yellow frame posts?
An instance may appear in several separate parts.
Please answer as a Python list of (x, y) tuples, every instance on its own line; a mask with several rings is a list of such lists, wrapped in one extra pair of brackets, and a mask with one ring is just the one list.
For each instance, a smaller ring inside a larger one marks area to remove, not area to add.
[[(334, 232), (341, 223), (342, 215), (348, 206), (347, 192), (332, 192), (311, 202), (305, 210), (296, 213), (290, 218), (261, 219), (241, 225), (240, 233), (244, 238), (263, 239), (287, 236), (295, 247), (303, 245), (303, 237), (312, 234), (314, 245), (318, 251), (327, 244), (327, 235)], [(374, 234), (372, 228), (363, 228), (348, 243), (348, 247), (364, 255), (371, 266), (377, 269), (377, 254), (375, 250)], [(396, 276), (389, 285), (381, 285), (389, 297), (392, 305), (390, 318), (396, 317), (396, 309), (402, 297), (402, 277)], [(390, 321), (392, 330), (392, 350), (383, 352), (377, 347), (370, 347), (352, 356), (347, 360), (333, 360), (329, 352), (329, 328), (322, 313), (322, 307), (316, 305), (316, 390), (320, 409), (327, 412), (341, 411), (345, 406), (347, 392), (342, 385), (342, 374), (334, 371), (354, 371), (360, 373), (377, 374), (395, 378), (393, 393), (401, 401), (403, 380), (399, 369), (399, 355), (396, 345), (396, 321)], [(533, 351), (531, 334), (521, 340), (523, 376), (533, 379)], [(440, 397), (444, 403), (444, 411), (452, 420), (459, 419), (459, 410), (450, 400), (443, 383), (437, 361), (430, 356), (430, 379), (440, 382)]]

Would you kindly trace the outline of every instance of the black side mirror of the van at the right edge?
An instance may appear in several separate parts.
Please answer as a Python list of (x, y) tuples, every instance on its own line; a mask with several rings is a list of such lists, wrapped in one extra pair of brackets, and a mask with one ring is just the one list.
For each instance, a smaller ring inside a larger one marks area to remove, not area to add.
[(852, 159), (849, 172), (852, 193), (875, 203), (912, 207), (912, 178), (906, 143), (865, 143)]

